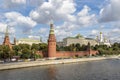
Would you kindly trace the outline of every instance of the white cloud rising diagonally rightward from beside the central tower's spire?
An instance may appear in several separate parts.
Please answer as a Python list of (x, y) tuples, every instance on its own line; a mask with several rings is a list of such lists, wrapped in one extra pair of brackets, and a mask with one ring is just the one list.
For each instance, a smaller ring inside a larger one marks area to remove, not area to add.
[(56, 26), (56, 35), (60, 38), (59, 40), (72, 36), (74, 31), (79, 30), (82, 27), (97, 23), (95, 14), (89, 14), (90, 10), (91, 9), (85, 5), (76, 16), (71, 15), (72, 20), (65, 20), (62, 25)]

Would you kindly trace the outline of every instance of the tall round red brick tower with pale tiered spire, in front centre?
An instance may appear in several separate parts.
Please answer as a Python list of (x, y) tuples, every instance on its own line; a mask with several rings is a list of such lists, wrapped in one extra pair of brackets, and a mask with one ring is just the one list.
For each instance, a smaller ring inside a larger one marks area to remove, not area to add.
[(53, 24), (50, 24), (50, 33), (48, 38), (48, 57), (55, 58), (56, 57), (56, 38), (54, 34)]

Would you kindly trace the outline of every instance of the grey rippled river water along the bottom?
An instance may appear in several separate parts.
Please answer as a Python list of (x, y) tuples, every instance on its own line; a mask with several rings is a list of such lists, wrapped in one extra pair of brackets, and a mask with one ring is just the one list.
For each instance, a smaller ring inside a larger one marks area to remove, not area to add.
[(0, 80), (120, 80), (120, 60), (4, 70), (0, 71)]

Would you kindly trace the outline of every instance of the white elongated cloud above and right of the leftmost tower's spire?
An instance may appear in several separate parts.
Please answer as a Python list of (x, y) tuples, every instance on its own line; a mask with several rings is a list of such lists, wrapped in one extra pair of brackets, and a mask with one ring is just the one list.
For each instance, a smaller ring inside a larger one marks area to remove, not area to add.
[(5, 13), (5, 17), (7, 18), (9, 25), (21, 27), (24, 32), (29, 31), (31, 28), (35, 27), (37, 24), (30, 17), (23, 16), (22, 14), (18, 12)]

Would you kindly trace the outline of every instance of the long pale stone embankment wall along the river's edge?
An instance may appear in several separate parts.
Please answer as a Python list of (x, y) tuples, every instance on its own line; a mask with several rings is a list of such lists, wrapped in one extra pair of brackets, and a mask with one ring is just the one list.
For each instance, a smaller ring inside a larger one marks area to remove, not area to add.
[(112, 58), (118, 59), (118, 56), (3, 63), (3, 64), (0, 64), (0, 70), (34, 67), (34, 66), (42, 66), (42, 65), (75, 63), (75, 62), (83, 62), (83, 61), (97, 61), (97, 60), (112, 59)]

